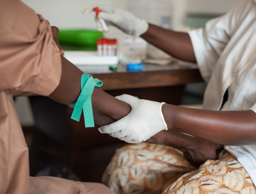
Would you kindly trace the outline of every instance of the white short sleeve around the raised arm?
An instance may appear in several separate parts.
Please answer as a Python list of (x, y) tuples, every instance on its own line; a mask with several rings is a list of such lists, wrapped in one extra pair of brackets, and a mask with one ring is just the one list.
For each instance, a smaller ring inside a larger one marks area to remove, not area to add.
[(196, 62), (206, 82), (209, 81), (222, 51), (254, 4), (253, 0), (245, 0), (225, 15), (209, 20), (205, 28), (189, 32)]

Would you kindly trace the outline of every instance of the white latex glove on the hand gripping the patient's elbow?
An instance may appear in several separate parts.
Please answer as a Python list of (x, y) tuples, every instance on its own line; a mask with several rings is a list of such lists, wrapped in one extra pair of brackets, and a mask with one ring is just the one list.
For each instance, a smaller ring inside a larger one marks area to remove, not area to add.
[(131, 112), (124, 118), (99, 128), (101, 133), (123, 140), (127, 143), (140, 143), (160, 131), (167, 130), (162, 114), (164, 102), (140, 100), (124, 94), (116, 97), (131, 106)]

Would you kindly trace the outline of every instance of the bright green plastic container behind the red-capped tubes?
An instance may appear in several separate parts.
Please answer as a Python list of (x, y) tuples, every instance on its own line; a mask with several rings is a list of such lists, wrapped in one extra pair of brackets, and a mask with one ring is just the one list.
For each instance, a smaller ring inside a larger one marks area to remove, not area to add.
[(103, 33), (94, 30), (60, 30), (59, 43), (63, 50), (97, 50), (97, 39)]

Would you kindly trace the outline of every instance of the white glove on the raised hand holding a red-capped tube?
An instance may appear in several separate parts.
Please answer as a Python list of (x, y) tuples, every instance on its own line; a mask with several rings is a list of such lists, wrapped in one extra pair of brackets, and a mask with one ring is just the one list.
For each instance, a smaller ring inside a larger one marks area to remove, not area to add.
[[(109, 6), (98, 7), (101, 11), (98, 14), (99, 18), (105, 20), (107, 25), (116, 26), (126, 34), (139, 37), (148, 30), (148, 23), (145, 20), (135, 17), (128, 11)], [(83, 13), (90, 13), (92, 11), (93, 7), (85, 8)], [(98, 20), (96, 20), (96, 23), (98, 30), (102, 31)]]

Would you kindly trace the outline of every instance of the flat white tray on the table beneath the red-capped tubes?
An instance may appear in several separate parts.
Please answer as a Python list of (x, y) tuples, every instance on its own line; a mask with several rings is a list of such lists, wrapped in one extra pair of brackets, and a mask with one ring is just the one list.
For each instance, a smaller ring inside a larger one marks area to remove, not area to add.
[(97, 56), (97, 52), (65, 51), (64, 57), (74, 65), (117, 65), (117, 56)]

